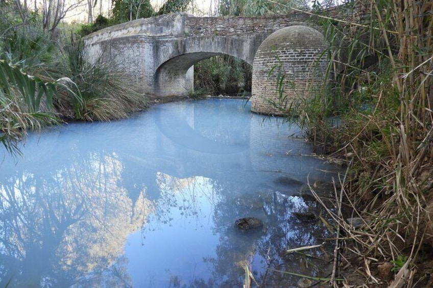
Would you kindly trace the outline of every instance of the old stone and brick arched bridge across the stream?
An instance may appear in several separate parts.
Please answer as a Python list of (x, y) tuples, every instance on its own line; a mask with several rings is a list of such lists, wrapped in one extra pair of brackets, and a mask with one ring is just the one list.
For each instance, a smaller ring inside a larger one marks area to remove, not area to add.
[[(84, 43), (89, 61), (100, 59), (110, 63), (122, 72), (124, 80), (138, 85), (148, 95), (187, 95), (194, 89), (193, 65), (217, 55), (231, 55), (253, 65), (253, 94), (254, 87), (260, 94), (267, 89), (263, 82), (269, 80), (269, 67), (255, 69), (253, 62), (259, 46), (283, 28), (311, 26), (310, 20), (303, 13), (271, 17), (194, 17), (175, 13), (115, 25), (88, 35)], [(301, 70), (308, 70), (322, 50), (323, 40), (319, 39), (318, 46), (311, 42), (314, 40), (311, 35), (302, 31), (283, 40), (292, 43), (292, 36), (302, 41), (293, 47), (280, 47), (279, 57), (292, 60), (288, 70), (293, 74), (291, 68), (299, 70), (302, 66)], [(271, 41), (268, 48), (278, 50), (278, 44)], [(263, 66), (263, 62), (275, 65), (275, 55), (261, 57), (257, 65)], [(258, 71), (256, 77), (254, 70)], [(304, 74), (299, 74), (299, 78), (305, 80)], [(271, 114), (271, 111), (262, 112)]]

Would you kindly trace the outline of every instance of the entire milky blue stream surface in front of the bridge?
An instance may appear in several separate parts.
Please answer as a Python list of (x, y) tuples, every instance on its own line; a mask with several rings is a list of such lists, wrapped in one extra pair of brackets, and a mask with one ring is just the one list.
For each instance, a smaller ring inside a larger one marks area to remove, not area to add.
[[(326, 277), (331, 244), (285, 250), (324, 241), (294, 212), (318, 213), (305, 184), (336, 168), (299, 127), (249, 109), (163, 104), (30, 135), (22, 158), (0, 150), (0, 286), (242, 287), (244, 267), (267, 287), (296, 286), (279, 271)], [(243, 217), (263, 228), (240, 232)]]

